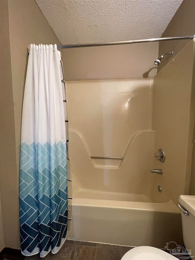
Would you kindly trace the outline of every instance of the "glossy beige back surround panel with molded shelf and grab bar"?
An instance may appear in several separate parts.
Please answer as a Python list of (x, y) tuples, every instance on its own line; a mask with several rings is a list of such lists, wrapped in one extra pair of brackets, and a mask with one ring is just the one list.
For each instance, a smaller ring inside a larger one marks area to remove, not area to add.
[(74, 198), (153, 201), (152, 84), (153, 79), (66, 81)]

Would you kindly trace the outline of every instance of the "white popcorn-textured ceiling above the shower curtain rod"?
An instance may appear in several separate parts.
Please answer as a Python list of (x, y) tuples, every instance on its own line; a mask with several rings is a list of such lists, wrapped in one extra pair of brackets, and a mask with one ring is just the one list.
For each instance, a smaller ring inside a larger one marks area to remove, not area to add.
[(182, 1), (36, 0), (61, 44), (161, 37)]

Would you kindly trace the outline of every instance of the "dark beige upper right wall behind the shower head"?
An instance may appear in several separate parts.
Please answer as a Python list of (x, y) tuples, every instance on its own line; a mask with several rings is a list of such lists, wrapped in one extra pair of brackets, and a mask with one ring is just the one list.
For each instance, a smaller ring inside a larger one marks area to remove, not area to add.
[[(194, 15), (195, 1), (183, 0), (161, 37), (177, 37), (195, 34)], [(159, 42), (159, 56), (165, 52), (173, 51), (172, 59), (189, 41), (190, 40), (161, 41)], [(158, 71), (160, 71), (160, 69), (162, 69), (169, 61), (169, 57), (165, 56), (161, 64), (158, 66)]]

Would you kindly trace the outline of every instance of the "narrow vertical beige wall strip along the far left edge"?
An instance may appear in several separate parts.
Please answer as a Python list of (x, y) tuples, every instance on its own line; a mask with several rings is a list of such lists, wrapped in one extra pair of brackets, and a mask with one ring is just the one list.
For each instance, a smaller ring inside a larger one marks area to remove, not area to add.
[(4, 240), (7, 247), (19, 247), (18, 178), (14, 130), (8, 1), (1, 1), (1, 173), (0, 189)]

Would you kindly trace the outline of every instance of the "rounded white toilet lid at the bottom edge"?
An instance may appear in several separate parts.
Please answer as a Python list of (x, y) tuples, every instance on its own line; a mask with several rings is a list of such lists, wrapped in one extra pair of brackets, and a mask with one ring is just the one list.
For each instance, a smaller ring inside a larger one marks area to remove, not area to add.
[(154, 248), (154, 247), (136, 247), (129, 250), (121, 260), (174, 260), (177, 259), (173, 255), (169, 255), (167, 252)]

